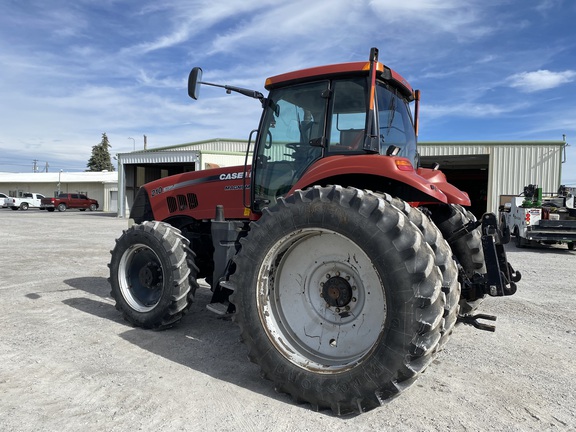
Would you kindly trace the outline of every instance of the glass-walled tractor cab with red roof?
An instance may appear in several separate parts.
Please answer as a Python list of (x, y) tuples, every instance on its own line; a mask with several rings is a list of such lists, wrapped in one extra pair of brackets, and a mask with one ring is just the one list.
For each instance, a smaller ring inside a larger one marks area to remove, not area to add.
[[(252, 166), (255, 210), (276, 202), (321, 158), (380, 154), (416, 166), (407, 86), (393, 86), (381, 63), (349, 63), (269, 78)], [(374, 98), (371, 102), (371, 94)]]

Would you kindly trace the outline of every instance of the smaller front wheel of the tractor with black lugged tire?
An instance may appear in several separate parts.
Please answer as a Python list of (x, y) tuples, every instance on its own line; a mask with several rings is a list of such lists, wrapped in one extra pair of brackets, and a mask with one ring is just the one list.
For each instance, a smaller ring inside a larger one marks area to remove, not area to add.
[(133, 225), (111, 254), (111, 296), (128, 322), (161, 330), (182, 319), (198, 287), (198, 269), (178, 229), (157, 221)]

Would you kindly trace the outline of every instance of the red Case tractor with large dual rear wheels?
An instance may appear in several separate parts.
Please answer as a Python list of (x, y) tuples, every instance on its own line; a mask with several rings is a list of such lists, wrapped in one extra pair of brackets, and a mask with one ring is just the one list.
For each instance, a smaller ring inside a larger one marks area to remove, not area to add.
[[(378, 61), (268, 78), (245, 166), (144, 185), (116, 241), (110, 283), (136, 326), (163, 329), (205, 279), (210, 310), (232, 314), (250, 359), (296, 401), (335, 414), (408, 387), (486, 296), (511, 295), (496, 216), (422, 168), (419, 91)], [(415, 101), (414, 117), (409, 107)], [(252, 149), (252, 147), (254, 147)], [(252, 154), (251, 164), (248, 157)]]

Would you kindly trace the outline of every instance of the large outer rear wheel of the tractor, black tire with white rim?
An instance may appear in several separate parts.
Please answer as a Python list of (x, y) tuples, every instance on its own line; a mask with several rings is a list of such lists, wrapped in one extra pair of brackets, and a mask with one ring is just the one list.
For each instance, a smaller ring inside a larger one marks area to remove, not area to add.
[(414, 224), (354, 188), (298, 190), (263, 211), (230, 277), (249, 357), (316, 410), (361, 413), (410, 386), (442, 330), (442, 275)]

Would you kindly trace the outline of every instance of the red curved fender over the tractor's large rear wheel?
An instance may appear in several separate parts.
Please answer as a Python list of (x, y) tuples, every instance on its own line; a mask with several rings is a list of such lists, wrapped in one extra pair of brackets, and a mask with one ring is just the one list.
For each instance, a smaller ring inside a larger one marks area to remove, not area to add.
[[(357, 156), (335, 155), (319, 159), (308, 168), (306, 173), (292, 187), (288, 195), (310, 185), (325, 183), (326, 179), (358, 174), (389, 179), (410, 186), (423, 194), (420, 194), (421, 197), (418, 201), (449, 203), (447, 195), (439, 185), (420, 176), (408, 159), (375, 154)], [(450, 186), (448, 183), (446, 185)], [(444, 187), (444, 185), (441, 186)], [(366, 188), (378, 189), (377, 184)], [(451, 191), (449, 188), (447, 190)], [(422, 199), (422, 197), (425, 197), (425, 199)]]

